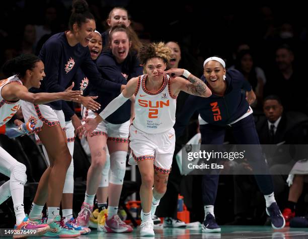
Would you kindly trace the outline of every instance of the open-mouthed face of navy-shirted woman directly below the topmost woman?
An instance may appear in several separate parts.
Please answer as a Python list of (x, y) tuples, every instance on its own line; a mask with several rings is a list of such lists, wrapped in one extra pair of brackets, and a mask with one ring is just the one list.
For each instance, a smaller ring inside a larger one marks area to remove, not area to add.
[(116, 58), (116, 61), (118, 63), (122, 63), (127, 57), (129, 47), (131, 45), (126, 32), (112, 32), (112, 34), (110, 35), (110, 42), (110, 48), (112, 54)]

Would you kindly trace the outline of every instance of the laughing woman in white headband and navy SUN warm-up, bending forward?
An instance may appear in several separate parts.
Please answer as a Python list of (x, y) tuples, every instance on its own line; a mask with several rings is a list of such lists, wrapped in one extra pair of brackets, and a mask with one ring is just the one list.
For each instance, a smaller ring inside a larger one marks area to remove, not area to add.
[[(275, 201), (273, 183), (262, 155), (259, 137), (256, 131), (253, 111), (249, 106), (255, 99), (255, 93), (249, 82), (238, 70), (225, 70), (225, 63), (219, 57), (209, 57), (204, 61), (204, 75), (213, 95), (208, 99), (189, 96), (183, 111), (175, 124), (176, 134), (180, 136), (190, 117), (197, 110), (200, 113), (199, 124), (201, 144), (222, 144), (225, 126), (233, 129), (237, 144), (257, 145), (254, 150), (246, 150), (247, 160), (255, 173), (255, 179), (266, 201), (266, 212), (271, 217), (273, 228), (282, 228), (285, 221)], [(246, 91), (246, 96), (242, 93)], [(246, 98), (246, 99), (245, 99)], [(265, 175), (261, 175), (265, 174)], [(205, 218), (204, 232), (219, 232), (214, 217), (214, 202), (217, 194), (219, 175), (202, 176), (202, 200)]]

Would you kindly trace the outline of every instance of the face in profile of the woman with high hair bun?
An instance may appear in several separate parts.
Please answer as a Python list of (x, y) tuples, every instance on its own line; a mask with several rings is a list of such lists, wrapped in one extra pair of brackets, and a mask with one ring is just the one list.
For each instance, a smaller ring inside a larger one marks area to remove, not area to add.
[(88, 19), (87, 22), (81, 25), (81, 27), (75, 23), (73, 25), (74, 36), (82, 46), (86, 47), (93, 37), (95, 28), (96, 24), (93, 19)]

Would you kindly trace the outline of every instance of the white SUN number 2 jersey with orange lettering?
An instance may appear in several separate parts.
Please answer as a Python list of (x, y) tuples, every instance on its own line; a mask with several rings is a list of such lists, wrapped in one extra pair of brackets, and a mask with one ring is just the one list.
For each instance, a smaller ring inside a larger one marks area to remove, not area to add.
[(133, 125), (145, 133), (166, 132), (173, 127), (176, 113), (176, 97), (171, 93), (171, 79), (165, 75), (161, 89), (155, 93), (145, 89), (146, 79), (146, 74), (138, 77)]

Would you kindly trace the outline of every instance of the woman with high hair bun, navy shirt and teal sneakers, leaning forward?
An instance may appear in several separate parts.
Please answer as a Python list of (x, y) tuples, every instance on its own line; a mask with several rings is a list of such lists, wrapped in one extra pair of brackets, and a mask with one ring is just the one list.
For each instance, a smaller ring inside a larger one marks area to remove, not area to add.
[[(77, 69), (81, 67), (89, 78), (89, 82), (100, 91), (120, 92), (121, 85), (102, 79), (97, 67), (91, 59), (88, 43), (96, 28), (93, 15), (88, 10), (85, 0), (73, 1), (73, 11), (69, 19), (69, 31), (51, 36), (43, 45), (40, 57), (46, 65), (46, 78), (42, 83), (42, 92), (62, 91), (73, 79)], [(66, 136), (62, 132), (65, 127), (65, 119), (62, 105), (65, 102), (55, 102), (50, 106), (37, 107), (33, 104), (23, 105), (25, 119), (29, 119), (37, 112), (41, 118), (57, 112), (58, 119), (55, 122), (44, 121), (39, 138), (48, 153), (50, 167), (46, 169), (40, 179), (33, 206), (29, 217), (39, 219), (42, 208), (47, 201), (47, 223), (52, 230), (50, 236), (65, 236), (62, 234), (63, 222), (59, 216), (59, 206), (63, 192), (66, 171), (71, 163), (71, 155), (67, 148)], [(67, 107), (68, 108), (68, 107)], [(71, 110), (70, 116), (74, 128), (81, 125), (78, 117)], [(60, 124), (60, 125), (59, 125)], [(50, 138), (53, 140), (51, 141)], [(59, 222), (60, 221), (60, 222)], [(58, 222), (58, 223), (57, 223)], [(66, 230), (71, 231), (71, 230)]]

